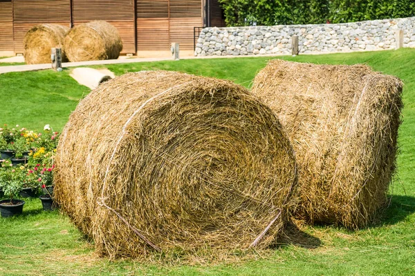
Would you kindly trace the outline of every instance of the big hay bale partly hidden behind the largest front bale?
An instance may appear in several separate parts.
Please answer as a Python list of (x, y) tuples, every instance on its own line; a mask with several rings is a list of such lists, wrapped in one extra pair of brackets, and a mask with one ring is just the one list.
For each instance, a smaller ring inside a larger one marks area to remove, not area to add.
[(297, 216), (367, 226), (394, 174), (403, 84), (368, 66), (274, 60), (252, 92), (279, 116), (299, 166)]

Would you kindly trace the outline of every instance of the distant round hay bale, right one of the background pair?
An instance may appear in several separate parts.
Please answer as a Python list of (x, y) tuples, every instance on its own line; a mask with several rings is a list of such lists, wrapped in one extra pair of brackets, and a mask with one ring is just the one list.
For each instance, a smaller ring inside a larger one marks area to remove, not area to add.
[(118, 59), (122, 41), (117, 28), (107, 21), (91, 21), (72, 28), (65, 37), (69, 61)]

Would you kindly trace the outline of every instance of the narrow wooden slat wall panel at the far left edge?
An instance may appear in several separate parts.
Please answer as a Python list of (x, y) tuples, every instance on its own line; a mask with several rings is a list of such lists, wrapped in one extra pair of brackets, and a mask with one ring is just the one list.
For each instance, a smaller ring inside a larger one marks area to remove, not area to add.
[(12, 1), (0, 0), (0, 51), (13, 51)]

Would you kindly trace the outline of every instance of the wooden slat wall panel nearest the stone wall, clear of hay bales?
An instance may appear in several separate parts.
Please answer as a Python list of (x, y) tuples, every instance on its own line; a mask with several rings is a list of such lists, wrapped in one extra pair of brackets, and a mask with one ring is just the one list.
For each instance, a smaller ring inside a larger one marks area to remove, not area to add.
[(202, 26), (201, 0), (137, 0), (137, 50), (193, 49), (193, 27)]

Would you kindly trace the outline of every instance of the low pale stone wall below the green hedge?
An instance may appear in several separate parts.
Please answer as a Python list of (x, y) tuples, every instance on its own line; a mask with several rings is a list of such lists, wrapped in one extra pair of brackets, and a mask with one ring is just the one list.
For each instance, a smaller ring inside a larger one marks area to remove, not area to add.
[(415, 48), (415, 17), (339, 24), (204, 28), (196, 56), (291, 54), (291, 37), (298, 36), (299, 53), (354, 52), (396, 48), (396, 31), (403, 30), (403, 47)]

